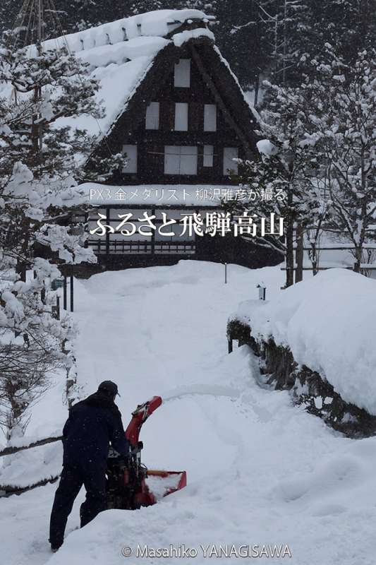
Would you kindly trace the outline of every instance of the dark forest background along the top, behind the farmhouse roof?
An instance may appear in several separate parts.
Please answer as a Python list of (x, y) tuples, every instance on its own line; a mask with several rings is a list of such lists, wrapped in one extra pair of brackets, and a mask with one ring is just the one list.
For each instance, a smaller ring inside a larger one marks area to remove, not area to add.
[[(0, 31), (13, 27), (21, 4), (3, 0)], [(60, 23), (55, 18), (49, 25), (51, 37), (164, 8), (198, 8), (213, 14), (224, 57), (241, 84), (256, 91), (260, 76), (273, 83), (300, 83), (299, 58), (304, 53), (322, 54), (325, 42), (336, 45), (348, 64), (360, 49), (376, 42), (374, 0), (55, 0), (54, 5)]]

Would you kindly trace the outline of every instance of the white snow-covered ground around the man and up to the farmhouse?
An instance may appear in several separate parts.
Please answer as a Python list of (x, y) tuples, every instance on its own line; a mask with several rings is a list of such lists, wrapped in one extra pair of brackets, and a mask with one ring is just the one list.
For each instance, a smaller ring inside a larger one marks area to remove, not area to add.
[[(375, 563), (375, 439), (345, 439), (293, 406), (289, 393), (260, 386), (248, 347), (226, 353), (229, 314), (255, 297), (261, 281), (267, 297), (277, 295), (283, 276), (278, 267), (229, 266), (224, 285), (223, 266), (181, 261), (76, 285), (85, 393), (116, 381), (125, 424), (137, 403), (162, 396), (142, 428), (143, 459), (150, 468), (186, 469), (188, 486), (151, 508), (107, 511), (72, 531), (81, 492), (66, 542), (52, 556), (47, 528), (56, 484), (0, 499), (2, 563), (204, 565), (210, 559), (200, 545), (211, 544), (289, 545), (292, 557), (269, 560), (275, 564)], [(52, 398), (57, 403), (59, 395)], [(39, 422), (56, 429), (63, 413), (47, 409), (47, 400)], [(198, 549), (198, 557), (121, 554), (123, 546), (135, 552), (171, 544)]]

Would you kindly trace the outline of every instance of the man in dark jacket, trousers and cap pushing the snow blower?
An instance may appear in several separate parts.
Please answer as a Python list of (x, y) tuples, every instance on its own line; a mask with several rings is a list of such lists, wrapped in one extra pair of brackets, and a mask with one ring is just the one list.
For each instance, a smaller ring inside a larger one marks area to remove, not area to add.
[(106, 468), (109, 444), (127, 457), (121, 414), (115, 404), (118, 387), (111, 381), (75, 404), (63, 428), (63, 471), (51, 511), (49, 542), (52, 551), (63, 545), (64, 531), (75, 497), (84, 485), (81, 528), (106, 508)]

